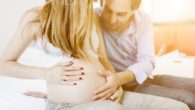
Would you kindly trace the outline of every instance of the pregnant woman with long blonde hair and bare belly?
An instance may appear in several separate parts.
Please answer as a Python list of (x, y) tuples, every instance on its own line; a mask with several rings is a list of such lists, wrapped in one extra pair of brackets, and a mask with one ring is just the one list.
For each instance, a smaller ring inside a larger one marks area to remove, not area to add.
[[(50, 0), (43, 7), (30, 9), (22, 17), (0, 60), (0, 73), (19, 78), (46, 79), (49, 100), (46, 110), (121, 110), (119, 103), (92, 100), (94, 90), (106, 81), (98, 72), (114, 71), (104, 51), (97, 18), (93, 0)], [(85, 69), (80, 68), (82, 72), (79, 74), (67, 74), (69, 70), (65, 70), (65, 62), (50, 68), (17, 63), (32, 41), (37, 41), (37, 45), (41, 43), (43, 49), (54, 56), (72, 58), (73, 66)]]

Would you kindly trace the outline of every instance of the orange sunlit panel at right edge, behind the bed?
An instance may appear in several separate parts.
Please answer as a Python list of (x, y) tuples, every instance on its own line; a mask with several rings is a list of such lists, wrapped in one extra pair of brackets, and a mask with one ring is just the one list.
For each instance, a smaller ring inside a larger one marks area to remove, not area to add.
[(195, 56), (195, 22), (154, 25), (156, 52), (166, 44), (167, 51), (179, 49)]

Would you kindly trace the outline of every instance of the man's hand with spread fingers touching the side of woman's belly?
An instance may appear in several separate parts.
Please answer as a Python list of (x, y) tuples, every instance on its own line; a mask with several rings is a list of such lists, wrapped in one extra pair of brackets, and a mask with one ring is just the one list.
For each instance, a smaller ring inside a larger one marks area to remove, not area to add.
[[(121, 86), (120, 78), (116, 73), (106, 71), (101, 72), (100, 75), (106, 77), (107, 82), (93, 93), (93, 100), (108, 99), (113, 96)], [(115, 99), (115, 96), (113, 96), (113, 98)]]

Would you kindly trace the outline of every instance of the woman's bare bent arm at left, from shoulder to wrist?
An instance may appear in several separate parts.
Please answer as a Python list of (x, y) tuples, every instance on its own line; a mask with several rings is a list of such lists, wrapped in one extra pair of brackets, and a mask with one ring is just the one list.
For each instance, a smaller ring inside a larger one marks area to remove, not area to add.
[(29, 10), (22, 16), (13, 39), (0, 59), (0, 75), (33, 79), (44, 78), (44, 68), (17, 63), (20, 55), (37, 35), (39, 23), (32, 22), (37, 15), (36, 11)]

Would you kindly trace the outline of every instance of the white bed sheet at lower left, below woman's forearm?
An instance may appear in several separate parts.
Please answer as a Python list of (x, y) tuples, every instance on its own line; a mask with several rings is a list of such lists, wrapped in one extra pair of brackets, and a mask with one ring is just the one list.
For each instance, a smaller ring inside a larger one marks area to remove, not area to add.
[(23, 95), (27, 91), (46, 91), (43, 80), (0, 77), (0, 110), (44, 110), (45, 100)]

